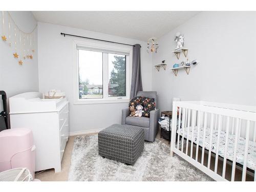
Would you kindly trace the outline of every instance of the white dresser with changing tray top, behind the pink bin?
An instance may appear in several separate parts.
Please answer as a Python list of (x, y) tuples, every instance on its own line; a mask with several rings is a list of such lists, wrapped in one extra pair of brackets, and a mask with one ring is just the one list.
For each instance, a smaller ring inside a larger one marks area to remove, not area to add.
[(39, 92), (27, 92), (10, 97), (9, 103), (11, 129), (27, 127), (33, 132), (35, 171), (54, 168), (60, 172), (69, 138), (67, 99), (42, 99)]

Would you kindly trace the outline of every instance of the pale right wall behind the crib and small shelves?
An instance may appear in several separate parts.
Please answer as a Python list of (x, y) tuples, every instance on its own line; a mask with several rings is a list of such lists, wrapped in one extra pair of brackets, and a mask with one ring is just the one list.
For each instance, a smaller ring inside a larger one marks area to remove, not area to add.
[(256, 14), (255, 12), (201, 12), (159, 39), (153, 65), (166, 60), (167, 68), (177, 60), (176, 32), (184, 34), (189, 75), (179, 71), (153, 70), (152, 88), (158, 92), (160, 110), (172, 109), (172, 98), (256, 105)]

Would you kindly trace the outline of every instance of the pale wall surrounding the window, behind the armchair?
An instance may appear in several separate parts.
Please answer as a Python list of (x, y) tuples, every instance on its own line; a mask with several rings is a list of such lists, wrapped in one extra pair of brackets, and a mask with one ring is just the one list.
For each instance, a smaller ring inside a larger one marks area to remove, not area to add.
[[(70, 101), (70, 132), (101, 129), (113, 123), (121, 123), (121, 110), (127, 103), (73, 104), (73, 47), (72, 40), (60, 32), (99, 38), (126, 44), (140, 44), (142, 83), (145, 91), (152, 89), (152, 55), (146, 52), (146, 42), (76, 28), (38, 23), (38, 71), (39, 91), (58, 89), (66, 92)], [(82, 40), (81, 38), (79, 40)]]

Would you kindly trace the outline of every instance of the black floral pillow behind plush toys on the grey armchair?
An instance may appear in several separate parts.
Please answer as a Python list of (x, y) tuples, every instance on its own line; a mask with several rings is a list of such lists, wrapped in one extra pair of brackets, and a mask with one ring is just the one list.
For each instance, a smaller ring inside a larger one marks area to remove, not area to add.
[(143, 106), (142, 117), (150, 117), (150, 112), (152, 110), (155, 110), (155, 107), (156, 107), (154, 98), (151, 99), (145, 96), (137, 96), (131, 99), (129, 103), (129, 108), (132, 105), (134, 105), (134, 107), (136, 108), (136, 106), (139, 104)]

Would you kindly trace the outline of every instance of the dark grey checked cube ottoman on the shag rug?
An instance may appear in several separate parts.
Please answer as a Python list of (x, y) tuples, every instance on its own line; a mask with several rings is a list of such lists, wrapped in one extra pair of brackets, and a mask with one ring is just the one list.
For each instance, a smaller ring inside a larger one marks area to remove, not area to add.
[(141, 127), (113, 124), (98, 133), (99, 155), (133, 165), (144, 148)]

